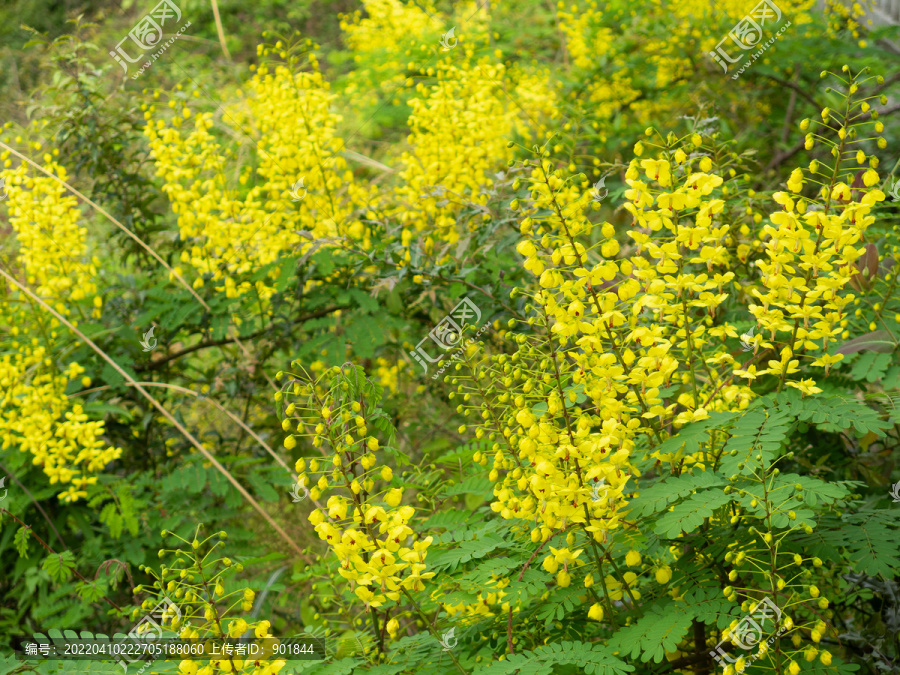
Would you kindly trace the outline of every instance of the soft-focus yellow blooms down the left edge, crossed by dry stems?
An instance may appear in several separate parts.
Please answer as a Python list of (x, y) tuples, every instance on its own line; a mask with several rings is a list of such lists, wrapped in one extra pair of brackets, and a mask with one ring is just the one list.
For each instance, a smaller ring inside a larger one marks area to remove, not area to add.
[[(3, 159), (8, 165), (8, 154)], [(65, 170), (49, 154), (44, 163), (65, 180)], [(0, 178), (6, 180), (9, 222), (25, 280), (57, 312), (72, 317), (73, 325), (78, 325), (72, 316), (76, 311), (82, 318), (98, 318), (103, 306), (94, 282), (99, 261), (85, 262), (87, 232), (78, 226), (75, 199), (52, 178), (31, 176), (24, 165), (0, 172)], [(59, 494), (63, 501), (87, 497), (85, 488), (97, 482), (91, 474), (122, 454), (103, 441), (104, 422), (90, 421), (82, 406), (66, 397), (70, 382), (90, 386), (90, 379), (82, 377), (85, 370), (78, 363), (63, 368), (55, 362), (64, 341), (60, 323), (28, 298), (8, 289), (0, 301), (0, 326), (10, 338), (0, 356), (0, 447), (31, 453), (51, 484), (69, 485)]]

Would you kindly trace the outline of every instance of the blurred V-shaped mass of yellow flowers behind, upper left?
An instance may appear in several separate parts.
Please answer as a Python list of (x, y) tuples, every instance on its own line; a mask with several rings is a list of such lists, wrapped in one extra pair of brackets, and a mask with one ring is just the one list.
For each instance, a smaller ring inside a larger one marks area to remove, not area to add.
[[(260, 155), (257, 178), (251, 180), (251, 167), (240, 176), (241, 185), (253, 184), (243, 196), (229, 185), (223, 157), (233, 153), (210, 132), (211, 113), (194, 115), (185, 106), (169, 125), (153, 121), (153, 107), (145, 113), (157, 175), (165, 180), (163, 190), (189, 243), (181, 260), (196, 271), (195, 288), (211, 281), (228, 297), (247, 293), (253, 285), (240, 277), (293, 250), (309, 250), (310, 237), (370, 246), (360, 212), (371, 189), (354, 180), (340, 155), (343, 141), (335, 129), (341, 117), (331, 110), (334, 96), (314, 55), (308, 60), (308, 72), (260, 67), (249, 84), (253, 95), (226, 115), (237, 129), (252, 130)], [(178, 107), (174, 99), (170, 107)], [(270, 278), (279, 273), (273, 269)], [(255, 289), (264, 300), (274, 292), (262, 280)]]

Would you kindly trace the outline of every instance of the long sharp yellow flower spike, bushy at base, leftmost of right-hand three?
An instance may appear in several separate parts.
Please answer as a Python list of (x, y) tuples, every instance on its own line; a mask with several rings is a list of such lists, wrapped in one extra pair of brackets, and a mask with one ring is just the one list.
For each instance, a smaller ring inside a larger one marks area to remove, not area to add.
[[(605, 541), (607, 532), (618, 526), (617, 509), (632, 471), (628, 457), (640, 420), (629, 423), (623, 415), (627, 407), (619, 400), (623, 387), (616, 380), (624, 379), (624, 371), (595, 353), (592, 341), (607, 317), (588, 323), (586, 315), (592, 312), (589, 304), (600, 302), (605, 307), (603, 303), (610, 302), (608, 297), (598, 298), (592, 284), (602, 285), (618, 268), (612, 261), (589, 263), (585, 247), (573, 239), (590, 236), (593, 225), (584, 217), (589, 197), (583, 198), (577, 186), (552, 173), (549, 161), (533, 170), (529, 182), (532, 204), (521, 227), (526, 235), (540, 231), (534, 240), (523, 240), (518, 250), (542, 287), (534, 297), (540, 316), (530, 323), (552, 329), (560, 351), (544, 353), (519, 336), (519, 350), (511, 358), (501, 355), (489, 366), (476, 366), (471, 381), (454, 378), (454, 383), (464, 384), (453, 397), (487, 401), (485, 383), (495, 383), (503, 392), (497, 405), (484, 404), (483, 421), (476, 425), (477, 438), (496, 439), (489, 476), (496, 483), (494, 511), (504, 518), (533, 521), (534, 542), (573, 523)], [(512, 208), (518, 207), (516, 200)], [(538, 213), (551, 215), (538, 224)], [(578, 340), (582, 333), (587, 335)], [(570, 341), (570, 350), (562, 351)], [(592, 369), (596, 377), (586, 380), (585, 373)], [(572, 384), (562, 389), (559, 382)], [(595, 397), (597, 414), (570, 414), (572, 403), (585, 393)], [(460, 409), (468, 414), (470, 407), (463, 404)], [(474, 459), (487, 465), (489, 454), (479, 452)], [(559, 581), (566, 583), (569, 561), (563, 555), (556, 562), (563, 564)]]

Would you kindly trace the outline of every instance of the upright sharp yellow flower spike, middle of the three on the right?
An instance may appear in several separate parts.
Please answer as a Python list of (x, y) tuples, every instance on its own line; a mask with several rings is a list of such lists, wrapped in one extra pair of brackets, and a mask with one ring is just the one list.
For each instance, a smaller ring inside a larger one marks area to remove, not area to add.
[[(677, 372), (681, 384), (688, 385), (688, 391), (665, 409), (654, 407), (656, 400), (646, 402), (650, 413), (663, 416), (665, 423), (671, 421), (676, 428), (705, 419), (710, 410), (743, 409), (753, 398), (748, 387), (732, 384), (726, 377), (738, 364), (724, 342), (726, 337), (737, 337), (737, 331), (727, 322), (714, 325), (719, 306), (729, 297), (726, 291), (733, 285), (730, 267), (735, 239), (729, 219), (720, 215), (725, 200), (713, 196), (722, 186), (722, 177), (711, 173), (709, 157), (689, 158), (685, 152), (700, 144), (701, 138), (694, 136), (659, 159), (632, 160), (625, 174), (630, 187), (625, 197), (631, 200), (625, 209), (641, 229), (628, 232), (637, 255), (630, 260), (633, 280), (624, 281), (623, 286), (630, 285), (629, 293), (642, 291), (630, 303), (632, 322), (645, 309), (652, 317), (650, 325), (636, 326), (626, 342), (645, 348), (652, 345), (647, 356), (655, 353), (657, 363), (645, 361), (651, 367), (645, 366), (642, 373), (650, 378), (648, 384), (658, 387)], [(643, 148), (637, 147), (636, 152), (642, 154)], [(723, 189), (722, 195), (726, 194)], [(717, 373), (716, 366), (723, 366), (725, 372)], [(655, 398), (655, 393), (648, 394), (648, 399)], [(670, 420), (676, 407), (683, 410)]]

